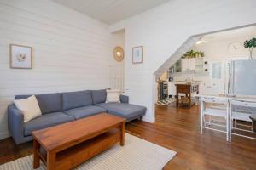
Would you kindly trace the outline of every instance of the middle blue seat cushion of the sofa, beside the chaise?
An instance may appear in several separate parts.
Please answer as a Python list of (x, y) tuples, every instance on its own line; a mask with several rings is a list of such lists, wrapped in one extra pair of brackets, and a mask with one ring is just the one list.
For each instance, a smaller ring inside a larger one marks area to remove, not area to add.
[(86, 116), (96, 115), (97, 113), (106, 112), (107, 110), (102, 107), (96, 107), (93, 105), (88, 105), (84, 107), (79, 107), (65, 111), (69, 116), (73, 116), (75, 119), (80, 119)]

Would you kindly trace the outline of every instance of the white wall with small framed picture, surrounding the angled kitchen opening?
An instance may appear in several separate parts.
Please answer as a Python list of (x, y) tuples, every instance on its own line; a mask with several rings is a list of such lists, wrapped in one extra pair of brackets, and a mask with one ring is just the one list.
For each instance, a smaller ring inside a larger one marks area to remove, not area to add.
[[(125, 27), (125, 93), (131, 103), (148, 107), (154, 122), (156, 71), (190, 36), (256, 23), (254, 0), (178, 0), (137, 14), (110, 27)], [(131, 48), (144, 46), (143, 64), (131, 63)]]

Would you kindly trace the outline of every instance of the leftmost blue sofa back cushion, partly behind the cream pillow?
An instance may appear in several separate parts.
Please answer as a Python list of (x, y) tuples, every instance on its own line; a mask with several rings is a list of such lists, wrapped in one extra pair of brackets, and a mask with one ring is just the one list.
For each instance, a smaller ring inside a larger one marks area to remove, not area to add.
[[(17, 95), (15, 99), (26, 99), (31, 95)], [(62, 111), (61, 94), (37, 94), (38, 105), (42, 114)]]

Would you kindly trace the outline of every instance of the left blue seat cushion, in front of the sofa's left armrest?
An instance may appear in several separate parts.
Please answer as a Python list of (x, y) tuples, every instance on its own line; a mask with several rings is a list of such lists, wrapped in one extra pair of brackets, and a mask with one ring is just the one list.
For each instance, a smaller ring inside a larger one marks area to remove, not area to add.
[(25, 136), (30, 136), (32, 131), (43, 129), (46, 127), (53, 127), (55, 125), (71, 122), (73, 121), (73, 116), (68, 116), (62, 112), (55, 112), (51, 114), (45, 114), (43, 116), (38, 116), (29, 122), (24, 123), (24, 134)]

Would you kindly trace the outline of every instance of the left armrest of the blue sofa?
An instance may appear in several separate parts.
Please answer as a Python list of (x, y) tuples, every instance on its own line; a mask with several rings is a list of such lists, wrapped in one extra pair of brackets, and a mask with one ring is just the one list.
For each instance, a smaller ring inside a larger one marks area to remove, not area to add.
[(15, 139), (16, 144), (20, 144), (20, 140), (24, 138), (24, 116), (22, 112), (16, 108), (15, 104), (8, 107), (8, 128), (9, 133)]

